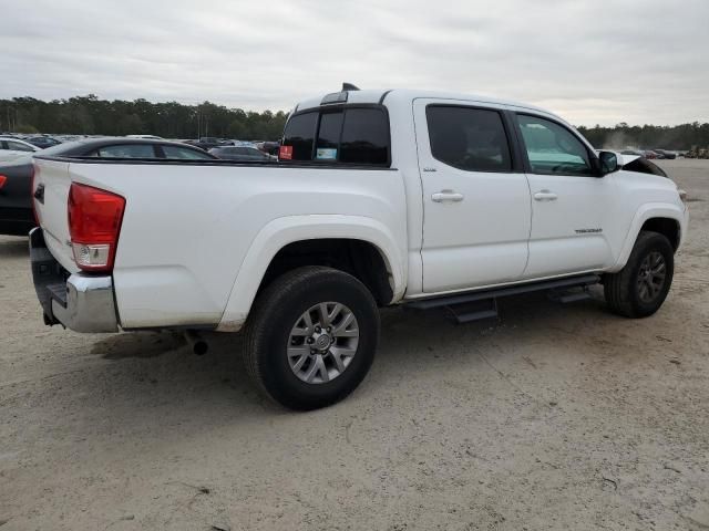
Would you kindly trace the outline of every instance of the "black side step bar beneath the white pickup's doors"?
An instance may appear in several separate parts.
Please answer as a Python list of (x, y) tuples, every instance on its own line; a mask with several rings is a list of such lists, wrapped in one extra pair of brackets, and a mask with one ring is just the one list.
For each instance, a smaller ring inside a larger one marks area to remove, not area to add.
[[(584, 274), (567, 279), (545, 280), (527, 284), (497, 288), (492, 290), (474, 291), (448, 296), (435, 296), (405, 304), (412, 310), (431, 310), (444, 308), (451, 312), (458, 323), (467, 323), (479, 319), (497, 316), (497, 299), (502, 296), (518, 295), (533, 291), (548, 291), (549, 298), (562, 303), (588, 299), (588, 287), (597, 284), (600, 277), (597, 274)], [(580, 292), (568, 292), (573, 288), (580, 288)]]

